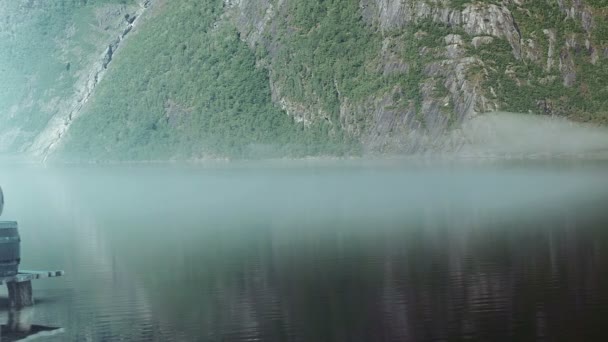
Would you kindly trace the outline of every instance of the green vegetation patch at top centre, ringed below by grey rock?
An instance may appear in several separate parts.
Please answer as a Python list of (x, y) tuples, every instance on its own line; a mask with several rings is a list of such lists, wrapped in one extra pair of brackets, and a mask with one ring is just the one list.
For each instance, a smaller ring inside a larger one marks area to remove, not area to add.
[(335, 121), (340, 95), (362, 98), (393, 81), (370, 63), (382, 41), (361, 20), (358, 6), (355, 1), (294, 1), (283, 10), (285, 20), (278, 20), (282, 46), (273, 63), (275, 82), (294, 101), (318, 98)]

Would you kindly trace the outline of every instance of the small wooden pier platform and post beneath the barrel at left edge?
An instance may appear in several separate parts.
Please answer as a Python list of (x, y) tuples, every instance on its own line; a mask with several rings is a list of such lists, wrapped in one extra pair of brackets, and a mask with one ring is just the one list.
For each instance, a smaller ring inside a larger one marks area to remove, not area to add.
[(34, 305), (32, 280), (61, 277), (64, 271), (19, 271), (16, 275), (0, 277), (0, 285), (8, 288), (8, 303), (12, 308)]

